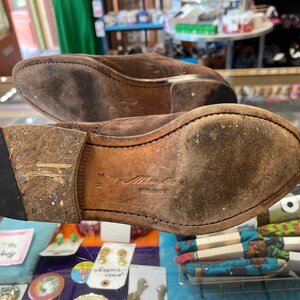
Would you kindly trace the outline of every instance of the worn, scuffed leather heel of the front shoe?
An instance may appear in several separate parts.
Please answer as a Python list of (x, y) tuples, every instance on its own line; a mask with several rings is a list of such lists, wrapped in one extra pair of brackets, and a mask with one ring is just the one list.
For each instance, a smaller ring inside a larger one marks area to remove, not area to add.
[(77, 169), (87, 134), (47, 125), (9, 126), (2, 132), (0, 161), (10, 160), (12, 172), (9, 178), (8, 164), (5, 169), (1, 163), (0, 176), (7, 180), (0, 193), (1, 215), (78, 223)]

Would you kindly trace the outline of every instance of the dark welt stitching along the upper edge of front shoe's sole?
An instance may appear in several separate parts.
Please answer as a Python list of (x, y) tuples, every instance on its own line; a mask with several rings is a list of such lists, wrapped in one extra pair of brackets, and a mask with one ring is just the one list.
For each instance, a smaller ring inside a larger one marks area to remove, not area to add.
[[(191, 123), (194, 123), (194, 122), (196, 122), (196, 121), (198, 121), (198, 120), (205, 119), (205, 118), (209, 118), (209, 117), (212, 117), (212, 116), (215, 116), (215, 115), (247, 116), (247, 117), (252, 117), (252, 118), (256, 118), (256, 119), (265, 120), (265, 121), (267, 121), (267, 122), (269, 122), (269, 123), (272, 123), (272, 124), (274, 124), (274, 125), (277, 125), (277, 126), (281, 127), (282, 129), (284, 129), (285, 131), (287, 131), (289, 134), (291, 134), (292, 136), (294, 136), (294, 137), (298, 140), (298, 142), (300, 143), (299, 138), (298, 138), (292, 131), (290, 131), (288, 128), (284, 127), (284, 126), (281, 125), (281, 124), (278, 124), (278, 123), (275, 123), (275, 122), (273, 122), (273, 121), (268, 120), (267, 118), (257, 117), (257, 116), (252, 116), (252, 115), (247, 115), (247, 114), (243, 114), (243, 113), (224, 113), (224, 112), (221, 112), (221, 113), (212, 113), (212, 114), (208, 114), (208, 115), (206, 115), (206, 116), (201, 116), (201, 117), (199, 117), (199, 118), (196, 118), (196, 119), (194, 119), (194, 120), (189, 121), (189, 122), (186, 123), (186, 124), (183, 124), (182, 126), (176, 128), (176, 129), (173, 130), (173, 131), (170, 131), (169, 133), (166, 133), (166, 134), (163, 135), (163, 136), (158, 137), (157, 139), (154, 139), (154, 140), (151, 140), (151, 141), (148, 141), (148, 142), (144, 142), (144, 143), (141, 143), (141, 144), (136, 144), (136, 145), (132, 145), (132, 146), (106, 146), (106, 145), (96, 145), (96, 144), (93, 144), (93, 143), (90, 143), (90, 142), (87, 142), (87, 144), (88, 144), (88, 145), (91, 145), (91, 146), (94, 146), (94, 147), (102, 147), (102, 148), (135, 148), (135, 147), (140, 147), (140, 146), (144, 146), (144, 145), (147, 145), (147, 144), (155, 143), (155, 142), (157, 142), (157, 141), (159, 141), (159, 140), (161, 140), (161, 139), (163, 139), (163, 138), (165, 138), (165, 137), (167, 137), (167, 136), (170, 136), (170, 135), (176, 133), (177, 131), (183, 129), (184, 127), (190, 125)], [(100, 134), (100, 135), (101, 135), (101, 134)]]

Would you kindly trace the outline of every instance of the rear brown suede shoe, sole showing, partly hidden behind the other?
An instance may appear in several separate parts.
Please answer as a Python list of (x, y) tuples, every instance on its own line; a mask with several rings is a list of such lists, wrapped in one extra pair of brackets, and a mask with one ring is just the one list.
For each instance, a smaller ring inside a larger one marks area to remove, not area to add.
[(20, 95), (56, 121), (98, 122), (237, 102), (217, 72), (158, 53), (37, 57), (17, 64), (13, 77)]

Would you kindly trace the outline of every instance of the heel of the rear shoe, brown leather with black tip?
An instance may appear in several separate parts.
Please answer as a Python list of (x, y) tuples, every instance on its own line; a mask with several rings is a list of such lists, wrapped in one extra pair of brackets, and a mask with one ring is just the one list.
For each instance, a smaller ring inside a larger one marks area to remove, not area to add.
[(208, 79), (174, 82), (171, 97), (172, 113), (189, 111), (207, 104), (237, 103), (236, 94), (229, 85)]

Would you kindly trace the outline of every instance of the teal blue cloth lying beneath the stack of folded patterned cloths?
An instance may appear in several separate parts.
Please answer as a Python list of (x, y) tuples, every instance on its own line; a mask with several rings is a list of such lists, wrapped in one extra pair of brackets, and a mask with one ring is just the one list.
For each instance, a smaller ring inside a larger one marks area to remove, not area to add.
[(171, 300), (295, 300), (300, 299), (300, 280), (268, 280), (215, 285), (180, 285), (174, 263), (175, 235), (160, 233), (160, 263), (166, 268), (168, 299)]

